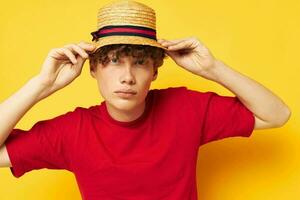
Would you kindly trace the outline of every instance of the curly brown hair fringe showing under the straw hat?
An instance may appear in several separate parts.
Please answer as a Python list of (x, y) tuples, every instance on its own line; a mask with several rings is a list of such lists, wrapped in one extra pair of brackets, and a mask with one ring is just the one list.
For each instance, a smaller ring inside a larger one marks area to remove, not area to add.
[(142, 59), (151, 58), (153, 60), (153, 67), (155, 68), (162, 66), (164, 59), (168, 57), (164, 49), (154, 46), (137, 44), (111, 44), (100, 47), (94, 53), (89, 55), (90, 70), (95, 71), (98, 63), (106, 65), (110, 60), (109, 53), (111, 52), (113, 52), (117, 58), (124, 55)]

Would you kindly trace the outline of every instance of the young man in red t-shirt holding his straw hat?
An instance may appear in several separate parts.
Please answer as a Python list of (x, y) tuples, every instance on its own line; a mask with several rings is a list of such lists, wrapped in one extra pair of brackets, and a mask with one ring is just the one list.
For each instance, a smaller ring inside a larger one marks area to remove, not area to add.
[[(195, 200), (201, 145), (249, 137), (254, 129), (280, 127), (289, 119), (280, 98), (215, 59), (197, 38), (157, 41), (148, 6), (119, 1), (98, 17), (94, 43), (52, 49), (40, 74), (0, 105), (0, 166), (15, 177), (65, 169), (74, 173), (83, 199)], [(149, 90), (165, 54), (236, 96), (186, 87)], [(34, 104), (78, 77), (87, 58), (105, 101), (27, 131), (14, 129)]]

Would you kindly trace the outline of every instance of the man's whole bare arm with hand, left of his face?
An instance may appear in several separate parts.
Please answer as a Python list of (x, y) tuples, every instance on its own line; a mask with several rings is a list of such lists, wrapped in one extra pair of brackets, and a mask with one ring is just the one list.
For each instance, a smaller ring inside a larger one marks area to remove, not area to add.
[(41, 72), (0, 104), (0, 166), (1, 163), (5, 163), (4, 158), (7, 155), (5, 141), (19, 120), (37, 102), (77, 78), (88, 58), (85, 51), (93, 49), (93, 45), (83, 42), (52, 49), (43, 63)]

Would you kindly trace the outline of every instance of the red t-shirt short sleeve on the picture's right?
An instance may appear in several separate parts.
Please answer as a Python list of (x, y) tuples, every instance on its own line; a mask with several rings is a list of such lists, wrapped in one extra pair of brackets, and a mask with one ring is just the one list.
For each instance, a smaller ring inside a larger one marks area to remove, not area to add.
[(236, 96), (187, 91), (201, 120), (200, 146), (228, 137), (250, 137), (254, 130), (254, 115)]

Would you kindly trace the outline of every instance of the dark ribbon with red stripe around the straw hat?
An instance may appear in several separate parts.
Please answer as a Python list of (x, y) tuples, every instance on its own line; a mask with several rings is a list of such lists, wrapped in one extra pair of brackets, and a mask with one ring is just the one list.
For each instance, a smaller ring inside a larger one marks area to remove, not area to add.
[(97, 41), (98, 38), (111, 35), (132, 35), (156, 40), (156, 30), (148, 27), (131, 25), (104, 26), (98, 31), (92, 32), (91, 35), (93, 36), (92, 41)]

